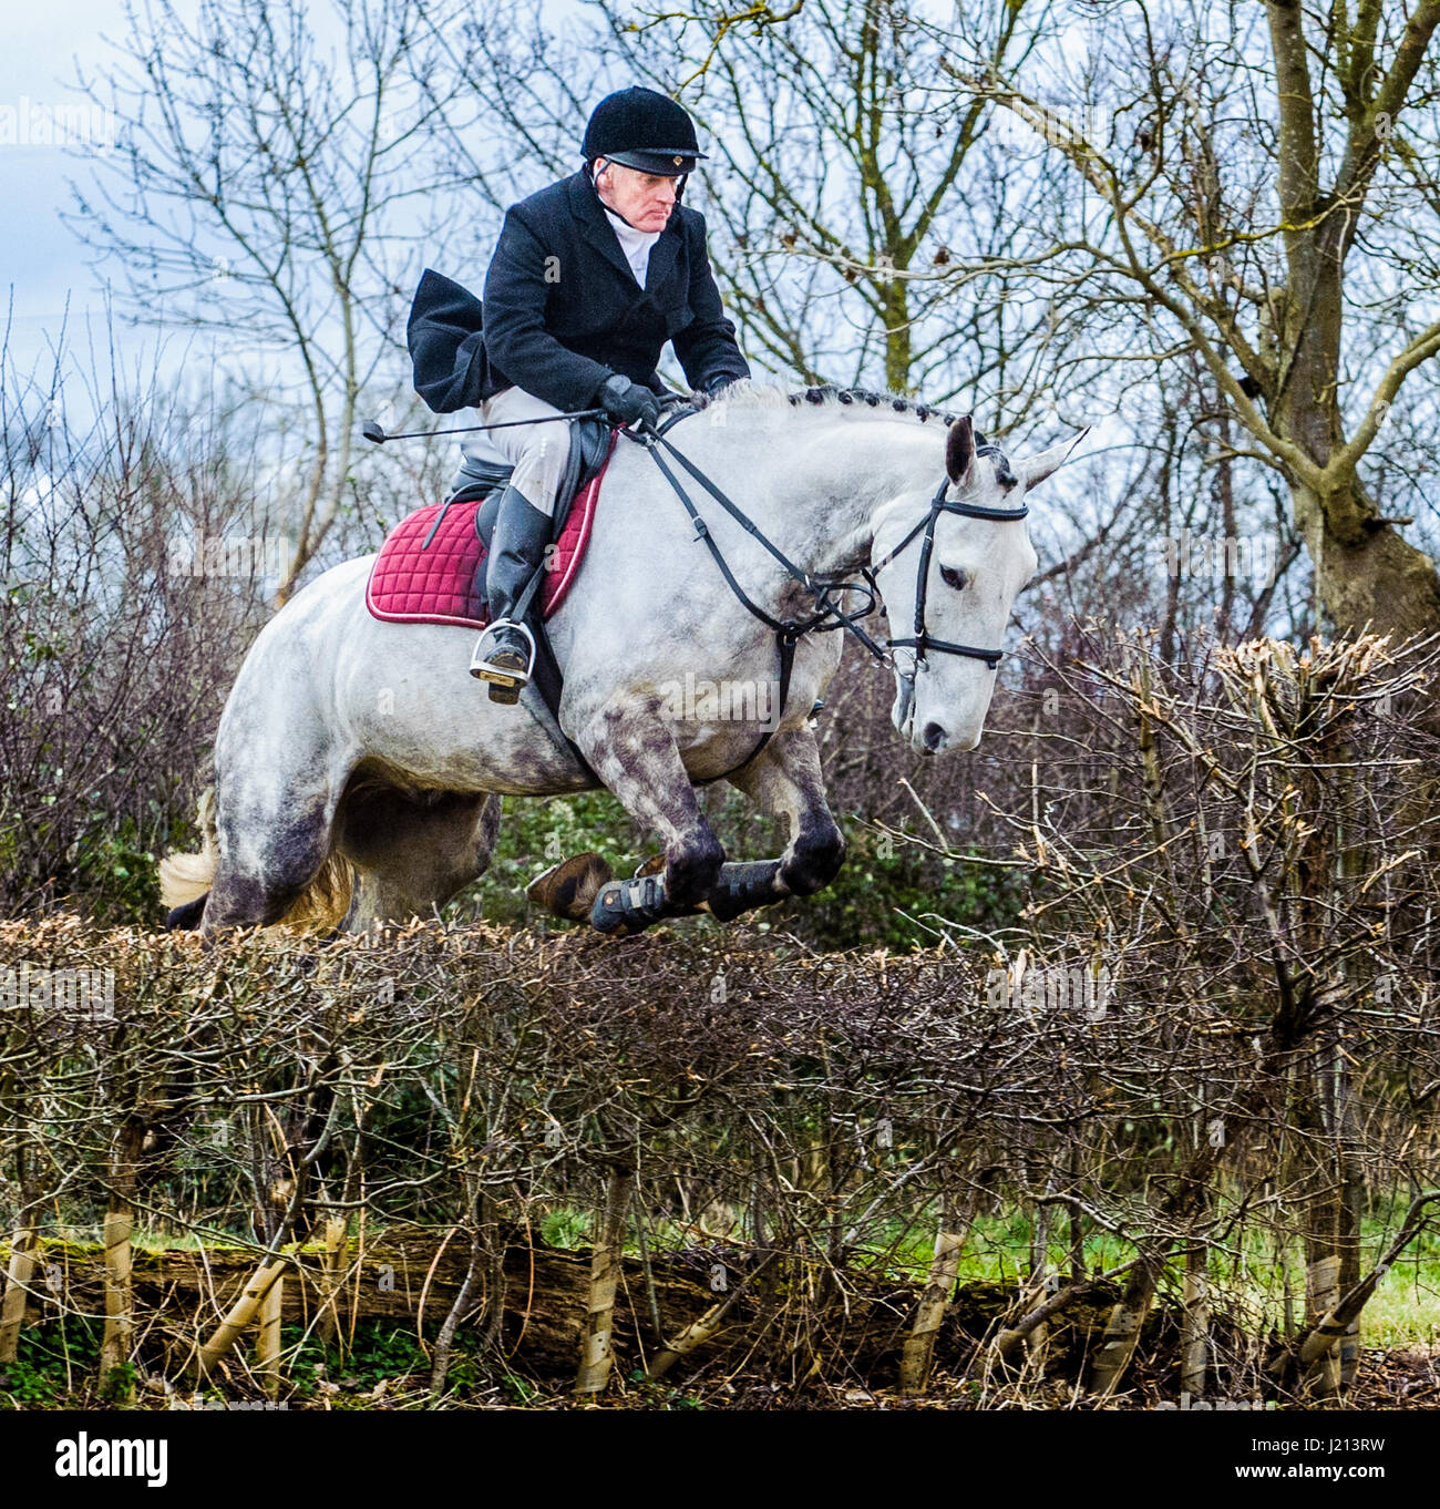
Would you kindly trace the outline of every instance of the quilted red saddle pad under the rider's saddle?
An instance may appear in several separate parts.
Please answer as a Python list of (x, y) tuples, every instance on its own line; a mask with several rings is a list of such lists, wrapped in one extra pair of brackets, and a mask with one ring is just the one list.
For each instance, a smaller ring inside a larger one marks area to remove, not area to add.
[[(599, 487), (613, 453), (614, 433), (610, 436), (604, 465), (575, 493), (560, 539), (549, 552), (549, 566), (540, 585), (540, 607), (546, 619), (565, 602), (580, 573)], [(475, 513), (482, 502), (483, 498), (477, 502), (451, 504), (429, 548), (423, 546), (435, 516), (444, 507), (439, 502), (402, 519), (385, 536), (365, 585), (365, 607), (376, 619), (386, 623), (454, 623), (468, 629), (483, 629), (491, 622), (489, 610), (472, 595), (475, 567), (485, 555), (485, 546), (475, 534)]]

